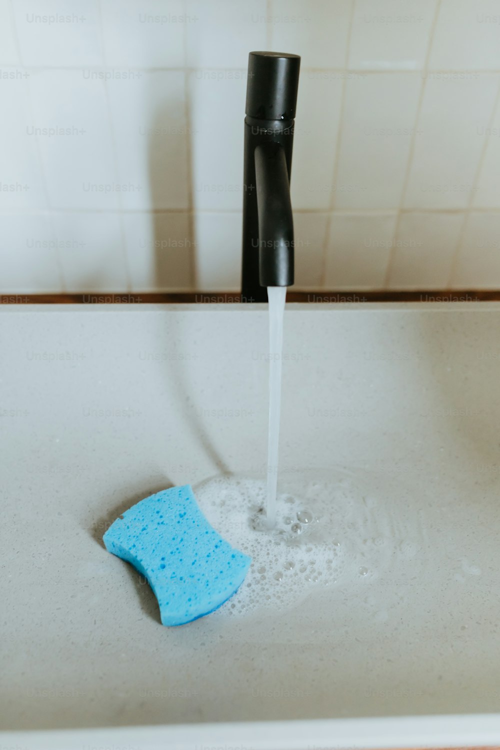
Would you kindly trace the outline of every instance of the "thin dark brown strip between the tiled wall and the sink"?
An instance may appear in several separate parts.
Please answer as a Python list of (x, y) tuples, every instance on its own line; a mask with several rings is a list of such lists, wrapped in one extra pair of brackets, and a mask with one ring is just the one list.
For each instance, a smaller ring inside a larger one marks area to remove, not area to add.
[[(487, 302), (500, 300), (500, 290), (421, 290), (415, 292), (294, 292), (289, 290), (286, 302)], [(1, 294), (0, 305), (123, 305), (160, 303), (164, 305), (214, 304), (241, 302), (239, 292), (193, 293), (116, 293), (86, 294)], [(251, 300), (248, 300), (251, 302)]]

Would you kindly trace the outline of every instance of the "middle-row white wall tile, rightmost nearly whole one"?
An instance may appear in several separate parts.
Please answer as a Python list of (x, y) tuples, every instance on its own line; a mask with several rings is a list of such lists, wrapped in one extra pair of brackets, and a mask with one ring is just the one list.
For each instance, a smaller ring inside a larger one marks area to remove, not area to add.
[(469, 204), (483, 139), (498, 90), (490, 74), (428, 74), (407, 208), (464, 208)]

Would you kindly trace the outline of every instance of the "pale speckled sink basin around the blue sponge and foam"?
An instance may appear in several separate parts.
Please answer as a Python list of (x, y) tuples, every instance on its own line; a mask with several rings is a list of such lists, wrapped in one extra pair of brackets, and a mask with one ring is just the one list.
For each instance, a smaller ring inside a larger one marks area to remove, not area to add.
[(336, 583), (165, 628), (104, 549), (154, 491), (264, 476), (267, 326), (0, 308), (1, 747), (499, 742), (497, 303), (286, 309), (279, 487), (331, 488)]

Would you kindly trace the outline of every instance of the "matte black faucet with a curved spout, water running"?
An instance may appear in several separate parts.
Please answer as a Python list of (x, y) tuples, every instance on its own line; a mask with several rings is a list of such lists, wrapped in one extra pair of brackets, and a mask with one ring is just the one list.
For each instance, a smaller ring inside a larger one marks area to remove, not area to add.
[(299, 55), (250, 52), (245, 112), (241, 299), (294, 281), (290, 171)]

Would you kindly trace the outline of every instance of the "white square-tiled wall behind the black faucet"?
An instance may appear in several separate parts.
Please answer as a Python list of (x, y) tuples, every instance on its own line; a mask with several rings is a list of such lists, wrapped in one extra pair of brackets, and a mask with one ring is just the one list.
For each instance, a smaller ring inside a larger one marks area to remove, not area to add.
[(0, 0), (0, 292), (238, 289), (251, 49), (298, 289), (500, 287), (499, 0)]

